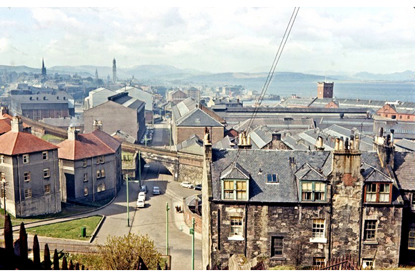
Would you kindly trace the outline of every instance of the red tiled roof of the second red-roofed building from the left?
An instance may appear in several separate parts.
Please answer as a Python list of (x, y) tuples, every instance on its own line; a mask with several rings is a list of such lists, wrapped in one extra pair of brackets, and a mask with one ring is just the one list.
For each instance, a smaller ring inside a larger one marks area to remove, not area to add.
[(105, 154), (113, 154), (120, 147), (121, 143), (109, 134), (95, 130), (89, 134), (78, 134), (77, 140), (66, 139), (59, 143), (59, 159), (71, 161), (97, 157)]

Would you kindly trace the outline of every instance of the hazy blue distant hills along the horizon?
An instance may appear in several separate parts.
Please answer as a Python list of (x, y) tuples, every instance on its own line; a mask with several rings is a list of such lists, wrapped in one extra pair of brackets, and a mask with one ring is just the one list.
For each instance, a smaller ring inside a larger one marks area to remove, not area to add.
[[(82, 77), (95, 78), (95, 71), (101, 79), (106, 79), (109, 75), (112, 78), (112, 66), (52, 66), (47, 68), (48, 74), (62, 73), (73, 75), (77, 73)], [(258, 70), (260, 68), (257, 68)], [(28, 66), (6, 66), (0, 65), (0, 71), (16, 71), (17, 73), (41, 73), (41, 69), (34, 69)], [(310, 71), (311, 72), (311, 71)], [(318, 72), (318, 71), (315, 71)], [(246, 84), (250, 82), (258, 82), (264, 84), (268, 71), (264, 72), (247, 72), (247, 73), (209, 73), (196, 69), (178, 69), (174, 66), (166, 64), (143, 64), (133, 66), (131, 68), (117, 68), (117, 77), (121, 79), (136, 78), (137, 80), (154, 80), (154, 81), (173, 81), (181, 80), (183, 82), (195, 83), (228, 83), (228, 84)], [(415, 71), (404, 71), (390, 74), (375, 74), (369, 72), (360, 72), (356, 74), (334, 73), (332, 75), (312, 74), (312, 73), (296, 73), (296, 72), (275, 72), (274, 80), (279, 82), (321, 82), (324, 80), (367, 80), (367, 81), (415, 81)]]

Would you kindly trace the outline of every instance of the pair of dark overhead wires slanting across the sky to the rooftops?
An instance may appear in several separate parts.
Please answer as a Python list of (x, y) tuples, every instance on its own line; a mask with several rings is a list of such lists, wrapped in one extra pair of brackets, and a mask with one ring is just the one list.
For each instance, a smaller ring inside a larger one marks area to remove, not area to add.
[[(252, 123), (254, 122), (254, 119), (257, 116), (259, 107), (261, 107), (262, 100), (264, 99), (264, 96), (265, 96), (266, 91), (267, 91), (267, 89), (270, 85), (271, 80), (273, 79), (273, 75), (274, 75), (274, 72), (275, 72), (275, 67), (277, 66), (277, 64), (279, 62), (279, 58), (281, 57), (282, 51), (284, 50), (284, 46), (285, 46), (285, 44), (288, 40), (288, 36), (291, 33), (291, 29), (293, 28), (294, 21), (295, 21), (295, 18), (297, 17), (298, 10), (299, 10), (299, 7), (294, 8), (293, 14), (291, 15), (291, 18), (290, 18), (290, 21), (288, 21), (288, 25), (287, 25), (286, 30), (284, 32), (284, 36), (282, 37), (282, 41), (279, 44), (277, 54), (274, 57), (273, 65), (271, 66), (271, 69), (268, 72), (268, 76), (266, 78), (264, 87), (262, 87), (261, 94), (258, 97), (257, 103), (255, 103), (255, 107), (254, 107), (254, 111), (252, 112), (252, 116), (250, 117), (250, 120), (248, 121), (248, 127), (246, 128), (246, 134), (249, 134), (249, 132), (250, 132), (250, 128), (252, 126)], [(239, 142), (239, 143), (241, 143), (241, 142)], [(238, 148), (237, 155), (235, 156), (234, 162), (237, 161), (240, 151), (241, 151), (241, 149)]]

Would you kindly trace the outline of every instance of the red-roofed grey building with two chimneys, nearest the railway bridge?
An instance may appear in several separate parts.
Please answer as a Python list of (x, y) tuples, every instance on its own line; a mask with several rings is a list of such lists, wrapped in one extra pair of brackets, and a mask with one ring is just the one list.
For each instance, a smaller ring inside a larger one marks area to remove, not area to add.
[(102, 132), (99, 120), (93, 127), (93, 132), (79, 134), (70, 126), (68, 139), (57, 145), (62, 202), (97, 202), (120, 191), (121, 143)]

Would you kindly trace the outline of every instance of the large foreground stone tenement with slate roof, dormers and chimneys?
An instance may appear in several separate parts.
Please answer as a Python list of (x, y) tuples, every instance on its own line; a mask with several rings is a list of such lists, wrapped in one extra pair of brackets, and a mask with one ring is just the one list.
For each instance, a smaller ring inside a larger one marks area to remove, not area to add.
[(413, 259), (415, 155), (396, 155), (393, 136), (376, 136), (369, 152), (358, 136), (337, 138), (330, 151), (321, 138), (314, 150), (252, 149), (249, 137), (239, 149), (204, 143), (203, 267), (224, 267), (236, 254), (268, 267), (351, 256), (384, 268)]

